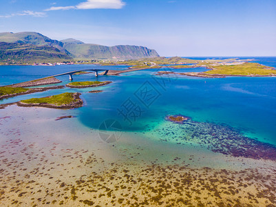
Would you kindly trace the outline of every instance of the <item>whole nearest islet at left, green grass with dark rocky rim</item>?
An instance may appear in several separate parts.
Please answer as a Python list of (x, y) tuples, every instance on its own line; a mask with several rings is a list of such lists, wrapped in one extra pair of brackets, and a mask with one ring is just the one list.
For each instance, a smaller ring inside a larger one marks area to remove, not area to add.
[(21, 100), (17, 102), (17, 106), (36, 106), (59, 109), (79, 108), (83, 106), (83, 100), (80, 98), (80, 95), (81, 93), (79, 92), (65, 92), (60, 95), (52, 95), (50, 97)]

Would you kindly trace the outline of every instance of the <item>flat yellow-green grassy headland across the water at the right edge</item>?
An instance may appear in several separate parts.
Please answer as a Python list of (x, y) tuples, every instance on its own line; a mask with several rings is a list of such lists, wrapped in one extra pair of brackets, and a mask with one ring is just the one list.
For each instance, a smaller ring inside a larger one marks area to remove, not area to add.
[(262, 66), (259, 63), (244, 63), (231, 66), (209, 66), (213, 70), (204, 73), (214, 75), (276, 75), (273, 68)]

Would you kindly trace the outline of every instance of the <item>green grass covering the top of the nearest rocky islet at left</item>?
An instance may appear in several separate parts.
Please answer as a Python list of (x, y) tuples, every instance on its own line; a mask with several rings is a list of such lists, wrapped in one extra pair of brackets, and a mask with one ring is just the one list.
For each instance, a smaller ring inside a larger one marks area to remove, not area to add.
[(33, 98), (22, 100), (22, 103), (50, 103), (56, 106), (61, 106), (63, 104), (68, 104), (74, 102), (73, 92), (65, 92), (60, 95), (53, 95), (51, 97), (44, 98)]

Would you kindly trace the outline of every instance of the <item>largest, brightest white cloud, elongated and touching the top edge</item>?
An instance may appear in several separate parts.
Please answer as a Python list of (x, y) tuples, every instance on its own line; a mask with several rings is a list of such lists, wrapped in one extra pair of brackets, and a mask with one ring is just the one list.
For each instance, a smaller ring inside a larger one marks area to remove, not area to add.
[(52, 10), (89, 10), (89, 9), (120, 9), (125, 6), (125, 2), (122, 0), (87, 0), (85, 2), (79, 3), (76, 6), (52, 6), (45, 11)]

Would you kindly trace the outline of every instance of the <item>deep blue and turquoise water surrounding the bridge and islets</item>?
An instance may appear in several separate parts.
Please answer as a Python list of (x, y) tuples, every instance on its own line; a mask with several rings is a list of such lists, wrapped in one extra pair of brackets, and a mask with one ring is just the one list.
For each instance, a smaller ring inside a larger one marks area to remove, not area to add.
[[(254, 59), (264, 65), (276, 67), (275, 57), (254, 57)], [(89, 68), (123, 70), (127, 67), (1, 66), (0, 86)], [(48, 90), (5, 99), (0, 103), (78, 91), (82, 92), (85, 106), (74, 110), (74, 114), (78, 115), (78, 119), (75, 120), (89, 128), (98, 129), (103, 121), (116, 119), (122, 130), (149, 133), (164, 124), (166, 115), (181, 114), (191, 117), (193, 121), (231, 126), (247, 137), (276, 145), (276, 77), (204, 79), (180, 75), (156, 76), (158, 70), (140, 70), (120, 76), (74, 75), (74, 81), (98, 79), (113, 83), (98, 88)], [(205, 69), (168, 70), (200, 72)], [(59, 79), (63, 81), (59, 85), (69, 82), (67, 76)], [(91, 94), (88, 93), (89, 90), (104, 90), (104, 92)]]

